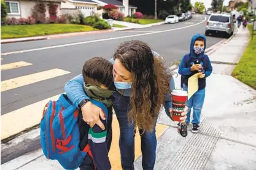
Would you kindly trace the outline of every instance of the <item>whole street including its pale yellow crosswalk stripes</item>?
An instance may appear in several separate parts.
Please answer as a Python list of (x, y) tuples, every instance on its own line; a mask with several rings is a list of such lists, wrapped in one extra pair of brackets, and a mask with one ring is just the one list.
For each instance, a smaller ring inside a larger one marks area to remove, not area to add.
[[(81, 73), (88, 58), (111, 58), (120, 43), (139, 39), (172, 64), (189, 52), (191, 37), (204, 34), (205, 26), (206, 16), (195, 15), (174, 25), (1, 44), (1, 139), (38, 124), (43, 109), (38, 106), (63, 93), (65, 83)], [(207, 37), (206, 48), (220, 41), (221, 37)], [(159, 137), (165, 127), (159, 125), (158, 129)], [(40, 147), (40, 138), (35, 137), (24, 141), (23, 147), (1, 150), (1, 164)]]

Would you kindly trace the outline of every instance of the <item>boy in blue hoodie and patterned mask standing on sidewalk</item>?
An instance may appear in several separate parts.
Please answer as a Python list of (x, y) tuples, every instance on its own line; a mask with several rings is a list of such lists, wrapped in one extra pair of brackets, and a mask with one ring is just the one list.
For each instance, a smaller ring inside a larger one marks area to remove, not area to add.
[(206, 77), (212, 73), (212, 65), (208, 55), (204, 54), (206, 48), (206, 37), (202, 34), (195, 34), (190, 44), (190, 53), (184, 55), (179, 64), (179, 74), (181, 76), (181, 87), (188, 89), (188, 78), (198, 74), (198, 91), (187, 101), (187, 125), (190, 123), (190, 114), (193, 107), (193, 133), (198, 133), (200, 124), (201, 109), (204, 104)]

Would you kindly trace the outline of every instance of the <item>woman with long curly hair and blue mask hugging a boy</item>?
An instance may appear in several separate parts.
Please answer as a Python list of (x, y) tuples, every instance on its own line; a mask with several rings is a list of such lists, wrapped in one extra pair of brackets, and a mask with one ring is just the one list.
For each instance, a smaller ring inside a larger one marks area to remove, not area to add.
[[(161, 106), (170, 117), (171, 71), (163, 58), (141, 41), (121, 44), (111, 59), (114, 85), (113, 107), (120, 126), (119, 147), (123, 169), (134, 169), (134, 136), (136, 127), (141, 134), (142, 168), (153, 169), (157, 148), (155, 125)], [(82, 110), (83, 120), (90, 126), (104, 125), (103, 111), (92, 104), (83, 91), (82, 75), (74, 77), (65, 85), (65, 91)], [(186, 112), (180, 118), (184, 121)], [(99, 118), (100, 117), (100, 118)]]

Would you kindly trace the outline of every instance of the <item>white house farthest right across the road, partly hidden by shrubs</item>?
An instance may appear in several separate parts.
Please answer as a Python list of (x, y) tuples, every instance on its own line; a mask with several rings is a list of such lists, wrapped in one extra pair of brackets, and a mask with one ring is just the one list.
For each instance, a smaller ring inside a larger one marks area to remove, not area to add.
[(129, 5), (129, 0), (117, 1), (117, 0), (91, 0), (98, 3), (99, 6), (106, 6), (107, 4), (112, 4), (118, 7), (120, 12), (125, 14), (125, 17), (128, 15), (133, 15), (136, 12), (137, 7)]

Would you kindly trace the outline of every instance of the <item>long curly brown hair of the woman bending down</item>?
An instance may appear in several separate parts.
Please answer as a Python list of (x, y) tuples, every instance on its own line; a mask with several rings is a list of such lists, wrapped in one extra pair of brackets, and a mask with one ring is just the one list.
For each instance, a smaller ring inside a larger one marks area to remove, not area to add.
[(114, 54), (133, 74), (130, 122), (143, 131), (152, 131), (155, 120), (169, 92), (171, 72), (166, 71), (163, 58), (154, 56), (149, 45), (142, 41), (121, 44)]

